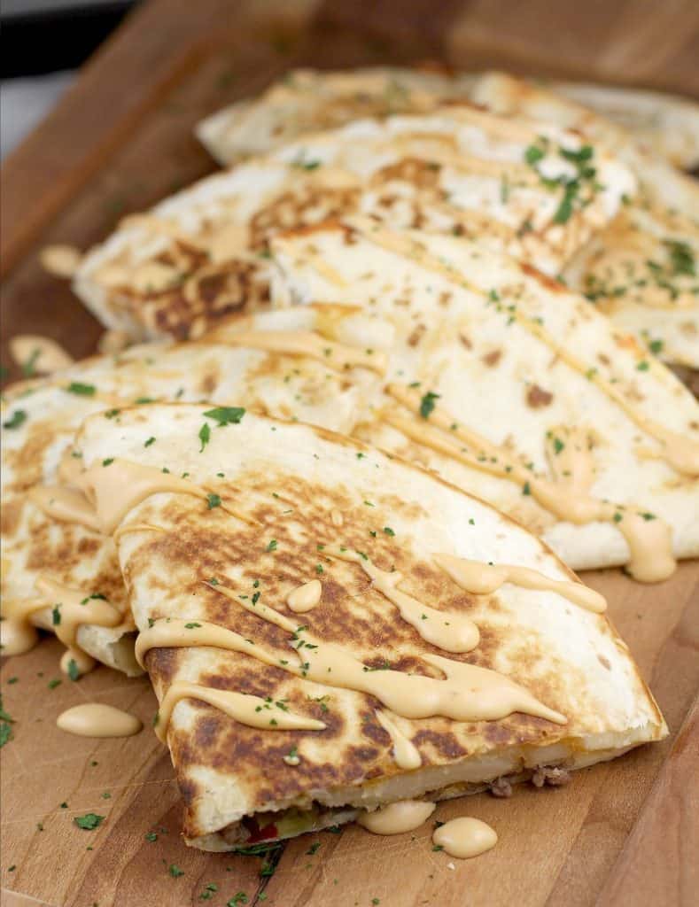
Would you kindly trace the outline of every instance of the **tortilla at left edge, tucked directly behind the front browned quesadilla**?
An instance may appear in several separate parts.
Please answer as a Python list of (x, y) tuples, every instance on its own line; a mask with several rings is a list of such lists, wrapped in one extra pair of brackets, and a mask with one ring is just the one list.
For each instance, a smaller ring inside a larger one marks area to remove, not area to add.
[[(292, 330), (300, 320), (288, 313), (284, 327)], [(257, 317), (254, 327), (264, 331), (270, 327), (267, 321), (267, 316)], [(278, 329), (278, 318), (272, 327)], [(3, 422), (19, 424), (3, 432), (3, 599), (36, 599), (34, 582), (40, 573), (85, 594), (100, 592), (121, 610), (123, 623), (115, 629), (85, 625), (78, 630), (79, 644), (112, 668), (141, 673), (133, 658), (133, 624), (112, 539), (59, 522), (31, 499), (37, 486), (61, 483), (59, 463), (73, 448), (83, 419), (101, 413), (105, 423), (118, 426), (121, 406), (134, 401), (141, 400), (146, 409), (156, 400), (210, 400), (351, 431), (364, 392), (376, 380), (367, 369), (333, 368), (328, 358), (234, 348), (223, 339), (218, 344), (132, 346), (120, 356), (93, 356), (51, 378), (9, 388)], [(66, 389), (71, 386), (74, 393)], [(144, 435), (143, 443), (148, 439)], [(158, 439), (152, 446), (162, 450)], [(52, 629), (51, 609), (34, 612), (34, 622)]]

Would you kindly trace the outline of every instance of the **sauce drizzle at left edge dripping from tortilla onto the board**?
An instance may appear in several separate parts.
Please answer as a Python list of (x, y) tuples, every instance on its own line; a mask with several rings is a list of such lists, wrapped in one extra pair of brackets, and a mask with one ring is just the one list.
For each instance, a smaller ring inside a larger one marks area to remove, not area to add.
[(59, 622), (53, 622), (52, 629), (67, 651), (61, 659), (61, 668), (68, 672), (68, 663), (73, 658), (79, 673), (94, 667), (94, 659), (86, 655), (77, 645), (78, 629), (83, 624), (94, 627), (117, 627), (121, 614), (108, 601), (91, 598), (82, 591), (69, 589), (41, 574), (34, 583), (38, 599), (10, 600), (5, 604), (4, 620), (0, 623), (4, 655), (22, 655), (32, 649), (38, 634), (31, 617), (35, 611), (56, 607)]

